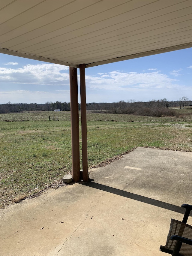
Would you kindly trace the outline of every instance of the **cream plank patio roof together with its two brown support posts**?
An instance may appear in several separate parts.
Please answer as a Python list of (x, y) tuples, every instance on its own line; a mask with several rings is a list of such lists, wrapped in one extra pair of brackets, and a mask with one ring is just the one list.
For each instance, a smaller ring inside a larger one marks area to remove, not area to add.
[(191, 0), (0, 0), (0, 53), (70, 67), (73, 180), (88, 180), (85, 68), (192, 47)]

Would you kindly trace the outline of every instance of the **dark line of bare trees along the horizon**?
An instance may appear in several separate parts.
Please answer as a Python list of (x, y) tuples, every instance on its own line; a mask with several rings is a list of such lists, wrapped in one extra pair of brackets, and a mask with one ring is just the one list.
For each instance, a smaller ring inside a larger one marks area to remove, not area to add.
[[(105, 111), (107, 113), (128, 113), (128, 114), (138, 114), (138, 115), (166, 115), (166, 109), (170, 107), (180, 107), (184, 108), (189, 106), (191, 101), (188, 100), (186, 96), (179, 98), (178, 101), (168, 101), (167, 98), (161, 100), (150, 100), (147, 102), (128, 100), (118, 101), (118, 102), (92, 102), (86, 104), (87, 110), (92, 110), (93, 112)], [(70, 102), (46, 102), (45, 104), (37, 103), (16, 103), (11, 104), (10, 101), (5, 104), (0, 104), (0, 113), (19, 113), (23, 111), (54, 111), (55, 109), (60, 109), (61, 111), (70, 110)], [(79, 104), (79, 110), (81, 109), (81, 104)], [(164, 114), (163, 114), (164, 112)], [(170, 110), (169, 110), (170, 113)]]

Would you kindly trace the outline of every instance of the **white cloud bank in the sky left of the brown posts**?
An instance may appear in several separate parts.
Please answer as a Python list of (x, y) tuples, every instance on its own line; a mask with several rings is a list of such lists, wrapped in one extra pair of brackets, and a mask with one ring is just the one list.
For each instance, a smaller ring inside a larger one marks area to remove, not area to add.
[(0, 68), (1, 82), (41, 85), (69, 85), (68, 67), (58, 64)]

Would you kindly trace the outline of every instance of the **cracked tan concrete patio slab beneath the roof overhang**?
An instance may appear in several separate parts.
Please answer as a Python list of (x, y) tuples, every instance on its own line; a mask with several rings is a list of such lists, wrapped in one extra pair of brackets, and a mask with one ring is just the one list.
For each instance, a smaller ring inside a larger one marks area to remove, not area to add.
[(191, 166), (191, 152), (137, 148), (88, 183), (1, 209), (0, 255), (167, 255), (170, 219), (192, 204)]

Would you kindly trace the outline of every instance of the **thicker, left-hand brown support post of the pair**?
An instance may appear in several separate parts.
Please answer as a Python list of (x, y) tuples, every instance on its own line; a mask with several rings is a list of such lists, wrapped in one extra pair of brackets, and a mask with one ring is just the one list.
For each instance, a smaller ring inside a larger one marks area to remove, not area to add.
[(71, 108), (71, 141), (72, 141), (72, 177), (74, 182), (80, 181), (79, 158), (79, 110), (77, 68), (69, 67), (70, 108)]

